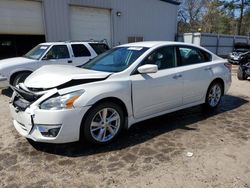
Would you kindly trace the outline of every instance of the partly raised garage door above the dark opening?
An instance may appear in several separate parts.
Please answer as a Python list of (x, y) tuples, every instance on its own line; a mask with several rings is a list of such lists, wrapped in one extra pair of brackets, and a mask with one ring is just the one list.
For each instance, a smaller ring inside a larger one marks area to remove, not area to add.
[(42, 4), (0, 0), (0, 34), (44, 34)]

